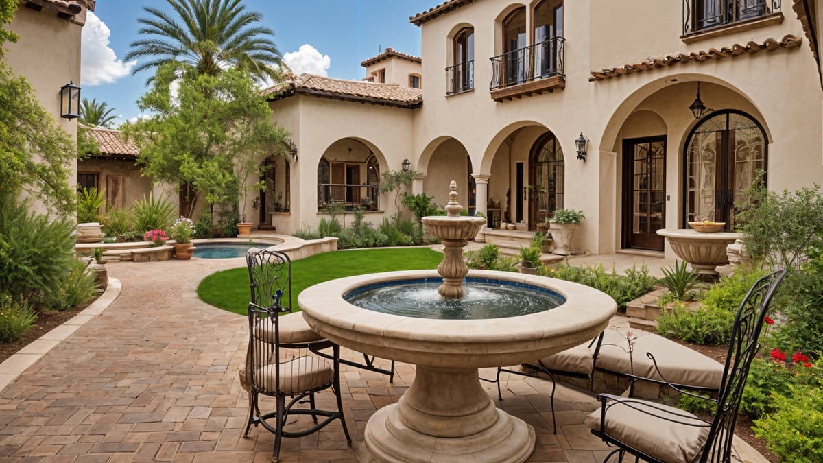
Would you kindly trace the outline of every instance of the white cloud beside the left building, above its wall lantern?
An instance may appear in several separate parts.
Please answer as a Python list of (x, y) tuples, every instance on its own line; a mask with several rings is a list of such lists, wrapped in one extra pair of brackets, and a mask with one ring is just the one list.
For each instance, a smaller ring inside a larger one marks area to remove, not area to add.
[(123, 60), (117, 58), (114, 50), (109, 48), (109, 35), (111, 31), (105, 22), (100, 21), (93, 12), (88, 12), (86, 26), (83, 26), (82, 30), (82, 85), (95, 86), (114, 82), (120, 77), (128, 76), (137, 64), (136, 59), (123, 63)]

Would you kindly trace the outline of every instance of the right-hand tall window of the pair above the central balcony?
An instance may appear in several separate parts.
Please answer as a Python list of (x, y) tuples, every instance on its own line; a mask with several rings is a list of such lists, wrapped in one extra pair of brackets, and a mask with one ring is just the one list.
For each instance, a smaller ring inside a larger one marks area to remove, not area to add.
[(534, 8), (534, 77), (557, 74), (563, 37), (563, 0), (543, 0)]

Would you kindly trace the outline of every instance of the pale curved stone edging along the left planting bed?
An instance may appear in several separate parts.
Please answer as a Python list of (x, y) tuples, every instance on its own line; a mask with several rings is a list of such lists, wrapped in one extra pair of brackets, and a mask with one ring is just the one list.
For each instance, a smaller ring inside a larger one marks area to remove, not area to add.
[(63, 325), (43, 334), (40, 339), (36, 339), (31, 344), (21, 348), (12, 357), (0, 363), (0, 391), (16, 380), (17, 376), (26, 371), (26, 368), (34, 365), (41, 357), (60, 344), (63, 339), (68, 338), (86, 322), (103, 313), (120, 295), (120, 288), (119, 279), (109, 278), (109, 285), (106, 287), (105, 292), (95, 302), (92, 302), (91, 306), (86, 307)]

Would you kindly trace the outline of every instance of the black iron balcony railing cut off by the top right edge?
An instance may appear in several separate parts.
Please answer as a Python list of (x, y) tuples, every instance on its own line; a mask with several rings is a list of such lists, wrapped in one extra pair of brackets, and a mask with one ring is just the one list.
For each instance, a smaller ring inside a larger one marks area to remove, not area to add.
[(683, 0), (683, 35), (780, 12), (781, 0)]

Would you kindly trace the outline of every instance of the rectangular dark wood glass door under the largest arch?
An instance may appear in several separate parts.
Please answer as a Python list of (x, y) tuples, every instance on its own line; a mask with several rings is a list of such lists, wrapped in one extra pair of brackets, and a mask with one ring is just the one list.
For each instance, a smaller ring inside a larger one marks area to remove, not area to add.
[(623, 160), (623, 246), (663, 250), (666, 137), (626, 140)]

